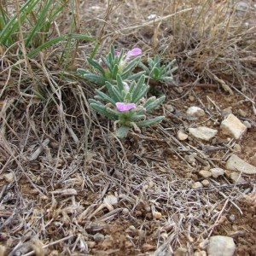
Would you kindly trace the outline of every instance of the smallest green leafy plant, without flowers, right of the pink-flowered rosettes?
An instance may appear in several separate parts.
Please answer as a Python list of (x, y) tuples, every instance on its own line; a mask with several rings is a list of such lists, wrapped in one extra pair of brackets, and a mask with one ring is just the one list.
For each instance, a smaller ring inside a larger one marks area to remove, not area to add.
[(146, 72), (148, 79), (155, 82), (167, 82), (172, 81), (172, 73), (177, 70), (177, 67), (172, 67), (176, 60), (169, 62), (167, 65), (161, 65), (160, 56), (155, 55), (154, 60), (148, 58), (148, 67), (142, 62), (139, 63), (139, 67), (142, 67)]

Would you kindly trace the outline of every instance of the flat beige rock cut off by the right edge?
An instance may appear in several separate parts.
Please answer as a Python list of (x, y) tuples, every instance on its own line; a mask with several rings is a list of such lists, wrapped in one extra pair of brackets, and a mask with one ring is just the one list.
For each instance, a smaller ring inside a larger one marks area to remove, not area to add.
[(246, 161), (241, 160), (236, 154), (232, 154), (227, 160), (226, 169), (230, 171), (239, 171), (245, 174), (256, 174), (256, 167), (248, 164)]

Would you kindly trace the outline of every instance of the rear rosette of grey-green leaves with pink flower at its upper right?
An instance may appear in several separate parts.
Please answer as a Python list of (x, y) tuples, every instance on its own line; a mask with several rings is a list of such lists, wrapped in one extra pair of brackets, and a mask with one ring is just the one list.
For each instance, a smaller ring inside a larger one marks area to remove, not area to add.
[[(115, 84), (116, 77), (119, 74), (123, 80), (137, 80), (144, 72), (132, 73), (134, 68), (140, 62), (142, 50), (139, 48), (131, 49), (126, 54), (124, 50), (115, 51), (111, 45), (110, 52), (105, 57), (102, 56), (100, 61), (87, 58), (92, 67), (90, 70), (78, 68), (84, 79), (99, 85), (104, 85), (107, 81)], [(132, 58), (133, 56), (137, 56)]]

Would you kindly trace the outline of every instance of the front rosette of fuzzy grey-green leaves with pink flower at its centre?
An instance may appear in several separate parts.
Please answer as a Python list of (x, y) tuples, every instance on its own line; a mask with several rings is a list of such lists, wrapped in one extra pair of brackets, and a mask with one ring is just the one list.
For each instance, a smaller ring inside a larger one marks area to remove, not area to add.
[(141, 132), (140, 127), (154, 125), (165, 118), (147, 118), (147, 113), (160, 106), (166, 96), (152, 96), (145, 100), (149, 85), (144, 82), (145, 76), (142, 75), (137, 82), (133, 81), (129, 86), (121, 75), (117, 74), (116, 84), (107, 81), (107, 92), (96, 90), (95, 99), (89, 99), (91, 108), (114, 120), (113, 128), (117, 137), (126, 137), (131, 128)]

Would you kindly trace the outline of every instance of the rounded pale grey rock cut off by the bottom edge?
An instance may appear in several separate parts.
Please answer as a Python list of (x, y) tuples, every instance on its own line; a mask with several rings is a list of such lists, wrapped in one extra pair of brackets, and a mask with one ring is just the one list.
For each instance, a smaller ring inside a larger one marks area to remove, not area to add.
[(207, 246), (207, 253), (211, 256), (233, 256), (235, 250), (235, 242), (228, 236), (212, 236)]

